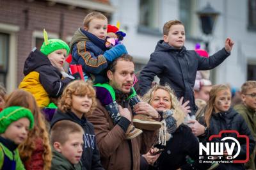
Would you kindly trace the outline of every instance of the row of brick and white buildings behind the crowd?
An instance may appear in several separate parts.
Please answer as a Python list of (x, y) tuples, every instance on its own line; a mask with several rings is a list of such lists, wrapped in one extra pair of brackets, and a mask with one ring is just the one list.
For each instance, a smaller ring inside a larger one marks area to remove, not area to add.
[[(211, 36), (204, 36), (196, 12), (211, 3), (220, 16)], [(92, 10), (104, 13), (110, 24), (120, 22), (127, 36), (124, 44), (134, 56), (136, 70), (147, 64), (168, 20), (181, 20), (186, 27), (186, 47), (209, 41), (209, 54), (224, 47), (225, 38), (235, 42), (232, 54), (211, 73), (214, 83), (239, 88), (256, 80), (255, 0), (1, 0), (0, 1), (0, 82), (12, 91), (22, 81), (24, 61), (33, 47), (49, 38), (69, 42), (83, 18)]]

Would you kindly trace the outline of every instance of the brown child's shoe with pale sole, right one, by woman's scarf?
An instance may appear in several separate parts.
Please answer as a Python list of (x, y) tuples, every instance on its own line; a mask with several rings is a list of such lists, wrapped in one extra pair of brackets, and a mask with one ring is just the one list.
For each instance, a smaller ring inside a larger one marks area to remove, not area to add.
[(152, 117), (145, 114), (135, 114), (133, 116), (133, 125), (136, 128), (141, 128), (144, 130), (157, 130), (161, 128), (161, 123), (159, 121), (153, 120)]

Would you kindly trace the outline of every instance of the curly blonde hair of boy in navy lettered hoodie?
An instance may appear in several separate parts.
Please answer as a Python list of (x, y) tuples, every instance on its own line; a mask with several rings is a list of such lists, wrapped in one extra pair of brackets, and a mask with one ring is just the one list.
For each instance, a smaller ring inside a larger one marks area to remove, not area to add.
[(85, 113), (86, 116), (92, 114), (93, 110), (96, 109), (96, 93), (90, 82), (73, 81), (68, 84), (68, 86), (64, 89), (58, 102), (58, 108), (61, 112), (70, 111), (72, 107), (72, 95), (88, 95), (88, 97), (92, 98), (92, 107), (89, 112)]

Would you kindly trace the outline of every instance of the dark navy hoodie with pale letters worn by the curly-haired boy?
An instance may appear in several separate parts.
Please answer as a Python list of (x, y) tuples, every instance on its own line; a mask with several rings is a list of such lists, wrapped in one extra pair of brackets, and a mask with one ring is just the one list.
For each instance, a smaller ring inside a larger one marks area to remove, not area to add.
[[(100, 153), (96, 143), (96, 137), (93, 129), (92, 123), (90, 123), (83, 116), (82, 119), (79, 119), (74, 112), (66, 112), (63, 113), (60, 110), (57, 110), (56, 114), (54, 114), (51, 121), (51, 128), (57, 121), (60, 120), (70, 120), (78, 123), (84, 129), (84, 148), (83, 155), (81, 158), (81, 162), (83, 164), (83, 169), (86, 170), (102, 170), (104, 169), (100, 163)], [(85, 166), (85, 168), (84, 168)]]

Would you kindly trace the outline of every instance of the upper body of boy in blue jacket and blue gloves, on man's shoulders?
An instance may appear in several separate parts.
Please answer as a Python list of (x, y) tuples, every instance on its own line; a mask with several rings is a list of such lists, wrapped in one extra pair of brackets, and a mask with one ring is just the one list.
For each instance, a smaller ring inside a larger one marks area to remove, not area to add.
[(92, 79), (93, 83), (107, 82), (105, 69), (108, 63), (127, 54), (127, 50), (122, 44), (111, 49), (106, 47), (108, 19), (102, 13), (88, 13), (83, 24), (83, 29), (77, 29), (70, 42), (70, 64), (82, 65), (84, 80)]

